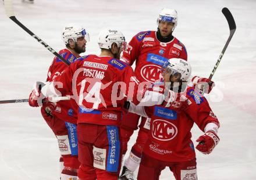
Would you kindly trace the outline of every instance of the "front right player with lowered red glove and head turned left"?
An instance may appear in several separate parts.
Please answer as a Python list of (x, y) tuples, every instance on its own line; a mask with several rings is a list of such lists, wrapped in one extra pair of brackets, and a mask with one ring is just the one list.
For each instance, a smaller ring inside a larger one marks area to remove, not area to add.
[[(169, 60), (162, 75), (169, 82), (169, 95), (161, 105), (138, 107), (129, 111), (151, 117), (150, 133), (143, 148), (138, 179), (157, 180), (161, 171), (169, 167), (177, 180), (197, 179), (195, 150), (190, 130), (193, 124), (204, 131), (195, 147), (209, 154), (219, 142), (219, 122), (207, 100), (194, 87), (186, 85), (191, 74), (187, 61)], [(167, 87), (167, 86), (166, 86)]]

